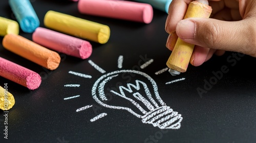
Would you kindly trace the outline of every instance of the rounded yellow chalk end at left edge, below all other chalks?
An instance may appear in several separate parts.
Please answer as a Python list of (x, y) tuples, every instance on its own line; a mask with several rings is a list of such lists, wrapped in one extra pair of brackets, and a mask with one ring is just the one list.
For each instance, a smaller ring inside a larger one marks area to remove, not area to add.
[(0, 109), (9, 110), (13, 107), (14, 104), (15, 100), (13, 95), (8, 92), (8, 86), (7, 88), (3, 88), (2, 86), (0, 86)]

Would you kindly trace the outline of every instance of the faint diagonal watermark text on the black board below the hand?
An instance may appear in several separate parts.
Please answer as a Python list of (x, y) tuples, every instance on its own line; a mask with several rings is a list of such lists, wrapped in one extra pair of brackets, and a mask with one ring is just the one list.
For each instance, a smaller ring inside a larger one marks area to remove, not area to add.
[(223, 78), (225, 74), (228, 73), (230, 70), (229, 66), (233, 67), (237, 65), (238, 61), (244, 57), (245, 54), (241, 53), (232, 53), (230, 56), (227, 57), (227, 63), (226, 65), (222, 65), (220, 70), (212, 71), (212, 76), (207, 80), (204, 79), (204, 85), (203, 87), (198, 87), (197, 92), (200, 96), (200, 98), (203, 98), (203, 94), (206, 94), (214, 85), (218, 83), (219, 80)]

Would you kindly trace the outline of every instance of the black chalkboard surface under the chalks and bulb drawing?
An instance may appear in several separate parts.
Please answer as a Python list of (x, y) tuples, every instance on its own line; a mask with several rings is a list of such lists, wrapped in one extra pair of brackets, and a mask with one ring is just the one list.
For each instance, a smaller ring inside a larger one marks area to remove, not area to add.
[[(91, 42), (81, 60), (60, 54), (48, 70), (0, 45), (0, 56), (38, 73), (42, 82), (29, 90), (8, 83), (15, 105), (0, 111), (0, 142), (255, 142), (256, 59), (226, 52), (186, 73), (166, 71), (165, 12), (154, 9), (149, 24), (80, 14), (77, 3), (31, 1), (44, 27), (48, 10), (108, 25), (105, 44)], [(0, 16), (15, 20), (7, 1)], [(32, 34), (20, 34), (32, 39)], [(1, 43), (3, 37), (0, 38)]]

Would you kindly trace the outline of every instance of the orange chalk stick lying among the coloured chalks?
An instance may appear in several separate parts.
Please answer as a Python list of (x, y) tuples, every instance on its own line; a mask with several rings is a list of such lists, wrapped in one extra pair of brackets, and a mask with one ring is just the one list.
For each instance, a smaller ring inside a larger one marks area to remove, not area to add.
[(60, 63), (58, 53), (22, 36), (8, 34), (3, 39), (5, 49), (48, 69), (56, 69)]

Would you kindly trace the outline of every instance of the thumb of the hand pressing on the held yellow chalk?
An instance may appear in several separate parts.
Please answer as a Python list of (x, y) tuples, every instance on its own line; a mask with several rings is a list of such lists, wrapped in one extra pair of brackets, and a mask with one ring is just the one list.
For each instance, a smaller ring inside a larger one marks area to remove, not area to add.
[(187, 18), (179, 21), (177, 35), (185, 42), (233, 51), (256, 57), (255, 20), (222, 21), (211, 18)]

